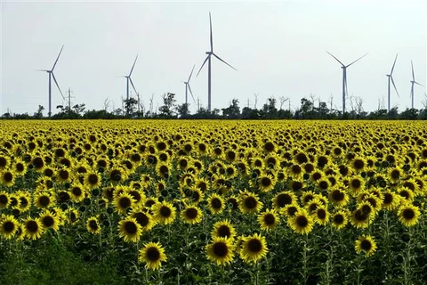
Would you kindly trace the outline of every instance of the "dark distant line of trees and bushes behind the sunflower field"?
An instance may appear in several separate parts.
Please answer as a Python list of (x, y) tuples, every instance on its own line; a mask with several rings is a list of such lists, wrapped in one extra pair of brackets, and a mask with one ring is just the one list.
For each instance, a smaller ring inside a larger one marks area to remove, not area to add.
[[(109, 111), (104, 102), (102, 110), (86, 110), (85, 104), (74, 106), (56, 107), (58, 112), (52, 119), (113, 119), (113, 118), (185, 118), (185, 119), (427, 119), (427, 95), (423, 102), (422, 109), (409, 109), (399, 112), (398, 107), (393, 107), (390, 111), (384, 108), (384, 104), (378, 103), (377, 110), (367, 112), (363, 109), (363, 100), (360, 97), (350, 97), (349, 110), (342, 114), (342, 110), (333, 108), (332, 100), (330, 106), (326, 102), (316, 100), (314, 95), (309, 98), (302, 98), (299, 109), (286, 109), (285, 103), (288, 98), (280, 97), (278, 100), (271, 96), (260, 109), (248, 105), (244, 108), (239, 106), (238, 99), (232, 99), (227, 108), (214, 109), (209, 111), (203, 107), (197, 108), (196, 113), (191, 114), (189, 104), (177, 104), (175, 94), (166, 93), (162, 95), (163, 105), (157, 110), (144, 110), (140, 103), (134, 99), (125, 99), (122, 108)], [(38, 110), (33, 115), (28, 113), (16, 114), (10, 111), (4, 113), (3, 119), (42, 119), (44, 107), (38, 106)]]

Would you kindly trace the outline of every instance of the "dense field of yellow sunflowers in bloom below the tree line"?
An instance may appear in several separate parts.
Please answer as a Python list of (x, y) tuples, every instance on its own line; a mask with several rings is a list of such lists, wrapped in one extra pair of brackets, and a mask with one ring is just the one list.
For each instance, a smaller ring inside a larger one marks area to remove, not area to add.
[(427, 124), (0, 121), (1, 284), (426, 284)]

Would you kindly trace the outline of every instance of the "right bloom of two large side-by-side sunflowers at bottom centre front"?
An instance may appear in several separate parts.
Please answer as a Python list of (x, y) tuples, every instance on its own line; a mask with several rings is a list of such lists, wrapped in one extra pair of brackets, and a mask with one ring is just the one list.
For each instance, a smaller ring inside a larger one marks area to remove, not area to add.
[(254, 233), (252, 236), (242, 237), (239, 254), (246, 263), (256, 263), (267, 255), (269, 248), (265, 237)]

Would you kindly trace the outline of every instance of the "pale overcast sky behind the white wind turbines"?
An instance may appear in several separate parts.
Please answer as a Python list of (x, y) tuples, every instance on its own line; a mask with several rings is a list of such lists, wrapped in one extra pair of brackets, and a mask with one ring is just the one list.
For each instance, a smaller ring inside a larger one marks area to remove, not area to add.
[[(209, 49), (209, 12), (212, 13), (214, 53), (212, 107), (225, 108), (237, 98), (240, 107), (257, 108), (270, 96), (288, 97), (291, 108), (314, 94), (342, 109), (342, 69), (326, 50), (344, 64), (365, 58), (347, 69), (349, 96), (359, 96), (367, 111), (378, 102), (387, 106), (387, 77), (393, 72), (399, 95), (391, 93), (391, 106), (410, 107), (411, 60), (415, 80), (426, 84), (425, 1), (282, 1), (282, 2), (15, 2), (1, 3), (0, 111), (33, 114), (48, 106), (48, 74), (61, 45), (54, 69), (64, 95), (71, 89), (72, 103), (86, 110), (121, 107), (135, 56), (133, 83), (145, 108), (154, 94), (176, 94), (185, 102), (185, 85), (194, 64), (190, 85), (200, 105), (207, 105), (207, 69), (196, 77)], [(131, 89), (132, 90), (132, 89)], [(426, 89), (415, 86), (415, 108), (421, 108)], [(134, 95), (134, 93), (133, 93)], [(194, 113), (197, 104), (192, 102)], [(52, 113), (62, 104), (52, 82)], [(279, 104), (278, 104), (279, 105)], [(287, 102), (284, 108), (288, 107)], [(278, 106), (279, 107), (279, 106)], [(350, 109), (350, 102), (347, 110)]]

